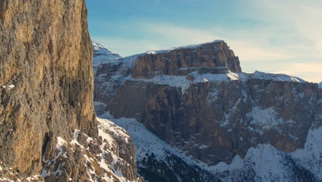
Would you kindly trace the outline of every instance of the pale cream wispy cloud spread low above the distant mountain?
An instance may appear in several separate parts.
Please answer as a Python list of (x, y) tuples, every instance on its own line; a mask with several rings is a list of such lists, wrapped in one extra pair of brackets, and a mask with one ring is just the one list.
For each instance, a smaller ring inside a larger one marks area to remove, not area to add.
[(251, 29), (223, 28), (211, 23), (199, 28), (187, 23), (137, 21), (127, 26), (136, 27), (149, 37), (94, 39), (126, 54), (223, 39), (239, 56), (246, 72), (283, 72), (308, 81), (322, 81), (322, 1), (246, 2), (248, 8), (240, 16), (259, 22)]

